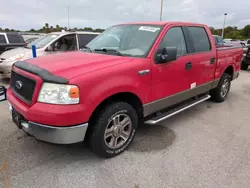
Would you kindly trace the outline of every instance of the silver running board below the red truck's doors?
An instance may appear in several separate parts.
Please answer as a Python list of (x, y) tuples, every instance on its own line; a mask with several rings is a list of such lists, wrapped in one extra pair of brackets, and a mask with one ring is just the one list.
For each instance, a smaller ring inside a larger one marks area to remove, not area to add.
[(146, 124), (157, 124), (157, 123), (159, 123), (159, 122), (161, 122), (161, 121), (163, 121), (165, 119), (168, 119), (168, 118), (170, 118), (170, 117), (172, 117), (172, 116), (174, 116), (174, 115), (176, 115), (176, 114), (178, 114), (178, 113), (180, 113), (180, 112), (182, 112), (182, 111), (184, 111), (184, 110), (186, 110), (188, 108), (191, 108), (192, 106), (195, 106), (195, 105), (197, 105), (197, 104), (199, 104), (199, 103), (201, 103), (203, 101), (208, 100), (210, 97), (211, 97), (210, 95), (205, 95), (205, 96), (202, 96), (202, 97), (200, 97), (198, 99), (189, 101), (189, 102), (184, 103), (184, 104), (182, 104), (182, 105), (180, 105), (180, 106), (178, 106), (176, 108), (171, 109), (170, 111), (162, 113), (159, 116), (156, 116), (156, 117), (154, 117), (154, 118), (152, 118), (150, 120), (147, 120), (147, 121), (145, 121), (145, 123)]

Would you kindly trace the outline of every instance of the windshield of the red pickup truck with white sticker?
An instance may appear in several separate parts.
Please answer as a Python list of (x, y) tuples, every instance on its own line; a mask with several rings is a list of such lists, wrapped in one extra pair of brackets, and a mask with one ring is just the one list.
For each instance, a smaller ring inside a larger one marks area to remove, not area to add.
[(123, 56), (145, 57), (161, 28), (156, 25), (113, 26), (88, 43), (86, 48), (95, 53), (116, 51)]

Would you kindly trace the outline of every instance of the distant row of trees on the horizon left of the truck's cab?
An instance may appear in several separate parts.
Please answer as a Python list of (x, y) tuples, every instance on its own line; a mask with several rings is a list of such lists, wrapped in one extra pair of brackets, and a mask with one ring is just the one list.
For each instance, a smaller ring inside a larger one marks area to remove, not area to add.
[[(34, 32), (34, 33), (50, 33), (50, 32), (60, 32), (62, 30), (67, 31), (67, 27), (61, 27), (59, 25), (56, 25), (53, 27), (52, 25), (49, 25), (48, 23), (45, 23), (44, 26), (41, 29), (35, 30), (35, 29), (30, 29), (28, 32)], [(9, 28), (0, 28), (0, 31), (3, 32), (9, 32), (9, 31), (16, 31), (19, 32), (19, 30), (14, 30), (14, 29), (9, 29)], [(104, 29), (93, 29), (91, 27), (85, 27), (85, 28), (74, 28), (74, 29), (69, 29), (69, 31), (92, 31), (92, 32), (103, 32)]]

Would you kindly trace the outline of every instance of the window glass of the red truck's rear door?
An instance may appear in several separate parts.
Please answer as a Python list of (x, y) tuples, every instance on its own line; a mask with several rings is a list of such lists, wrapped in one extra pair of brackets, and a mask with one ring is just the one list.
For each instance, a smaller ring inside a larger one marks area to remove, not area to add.
[(194, 53), (208, 52), (212, 49), (208, 34), (204, 27), (189, 26), (188, 30), (193, 41)]

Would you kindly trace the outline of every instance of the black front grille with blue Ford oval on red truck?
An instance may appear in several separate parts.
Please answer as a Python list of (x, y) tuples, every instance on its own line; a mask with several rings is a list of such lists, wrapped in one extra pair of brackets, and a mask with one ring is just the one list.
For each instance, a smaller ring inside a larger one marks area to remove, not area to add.
[(31, 103), (33, 93), (35, 90), (36, 82), (26, 76), (20, 75), (15, 71), (11, 72), (11, 90), (19, 97), (21, 100)]

